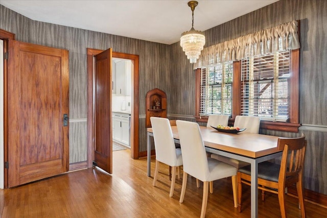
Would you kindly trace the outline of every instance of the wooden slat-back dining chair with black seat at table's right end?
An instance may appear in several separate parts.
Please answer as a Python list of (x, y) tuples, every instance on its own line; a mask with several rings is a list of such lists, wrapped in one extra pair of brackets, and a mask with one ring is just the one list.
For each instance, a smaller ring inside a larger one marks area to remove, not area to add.
[[(277, 149), (283, 151), (281, 164), (265, 161), (258, 164), (258, 188), (278, 195), (279, 207), (282, 218), (286, 217), (285, 211), (285, 188), (296, 183), (299, 206), (302, 217), (306, 217), (303, 200), (302, 173), (305, 159), (307, 141), (302, 134), (298, 138), (278, 138)], [(242, 205), (242, 183), (251, 185), (251, 166), (239, 168), (238, 180), (238, 202), (239, 212)]]

